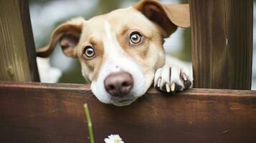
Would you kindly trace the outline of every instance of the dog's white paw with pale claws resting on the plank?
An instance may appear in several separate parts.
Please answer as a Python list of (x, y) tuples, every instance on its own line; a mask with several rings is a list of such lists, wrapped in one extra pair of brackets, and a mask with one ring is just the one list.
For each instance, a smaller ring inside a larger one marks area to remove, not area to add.
[(154, 87), (163, 92), (176, 92), (190, 89), (193, 77), (188, 69), (180, 69), (177, 66), (163, 66), (156, 70)]

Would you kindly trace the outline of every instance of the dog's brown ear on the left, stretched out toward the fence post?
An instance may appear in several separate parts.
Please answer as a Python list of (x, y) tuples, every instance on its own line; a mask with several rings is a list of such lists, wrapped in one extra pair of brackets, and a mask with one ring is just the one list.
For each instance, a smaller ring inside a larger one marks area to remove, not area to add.
[(85, 19), (79, 17), (58, 26), (57, 29), (55, 29), (52, 33), (52, 38), (49, 45), (37, 49), (37, 56), (47, 57), (52, 54), (54, 47), (59, 41), (62, 51), (66, 56), (74, 58), (77, 57), (77, 54), (75, 54), (75, 47), (80, 40), (82, 24), (84, 21)]

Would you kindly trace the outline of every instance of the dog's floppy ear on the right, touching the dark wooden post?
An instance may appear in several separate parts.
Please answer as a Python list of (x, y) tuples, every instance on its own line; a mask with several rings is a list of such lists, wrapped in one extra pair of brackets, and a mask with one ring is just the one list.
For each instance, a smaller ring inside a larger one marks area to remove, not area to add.
[(170, 5), (160, 4), (155, 0), (143, 0), (133, 7), (158, 24), (164, 31), (164, 37), (176, 31), (177, 26), (182, 28), (190, 26), (189, 4)]

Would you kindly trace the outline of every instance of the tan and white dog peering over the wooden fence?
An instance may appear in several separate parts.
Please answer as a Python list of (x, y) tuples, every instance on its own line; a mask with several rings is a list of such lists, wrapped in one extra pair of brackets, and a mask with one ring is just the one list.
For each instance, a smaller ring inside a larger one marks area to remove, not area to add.
[(188, 4), (143, 0), (89, 20), (78, 17), (61, 24), (49, 45), (37, 49), (37, 56), (49, 56), (59, 43), (66, 56), (80, 61), (82, 76), (100, 102), (125, 106), (152, 84), (163, 92), (192, 87), (191, 66), (163, 50), (164, 38), (178, 26), (190, 26)]

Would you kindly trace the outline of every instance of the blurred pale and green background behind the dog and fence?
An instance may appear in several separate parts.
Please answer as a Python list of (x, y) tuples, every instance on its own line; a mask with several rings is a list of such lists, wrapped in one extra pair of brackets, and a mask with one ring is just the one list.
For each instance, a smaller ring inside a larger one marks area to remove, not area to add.
[[(135, 4), (138, 0), (29, 0), (29, 10), (36, 47), (46, 46), (54, 29), (63, 22), (77, 16), (90, 19), (99, 14), (105, 14), (118, 8)], [(166, 4), (188, 3), (187, 0), (161, 0)], [(255, 3), (256, 4), (256, 3)], [(254, 4), (254, 6), (255, 6)], [(255, 15), (253, 29), (253, 64), (252, 89), (256, 89), (256, 43)], [(191, 61), (190, 29), (178, 29), (164, 44), (166, 53), (184, 61)], [(77, 59), (67, 58), (61, 48), (56, 47), (50, 60), (51, 66), (62, 71), (58, 82), (86, 83), (81, 74), (80, 63)]]

